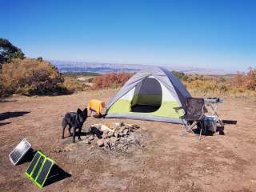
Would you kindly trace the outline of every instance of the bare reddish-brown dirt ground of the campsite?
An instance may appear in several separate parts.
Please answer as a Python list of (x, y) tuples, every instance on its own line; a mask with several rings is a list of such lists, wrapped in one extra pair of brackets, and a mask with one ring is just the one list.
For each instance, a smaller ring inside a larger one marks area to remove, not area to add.
[[(256, 191), (256, 102), (226, 98), (218, 113), (238, 124), (200, 142), (195, 134), (180, 137), (181, 125), (96, 118), (88, 118), (84, 131), (93, 123), (134, 123), (141, 126), (143, 146), (118, 153), (61, 139), (63, 114), (84, 108), (91, 98), (107, 102), (115, 91), (0, 102), (0, 191)], [(69, 177), (42, 190), (34, 186), (25, 174), (30, 162), (13, 166), (8, 158), (22, 138)]]

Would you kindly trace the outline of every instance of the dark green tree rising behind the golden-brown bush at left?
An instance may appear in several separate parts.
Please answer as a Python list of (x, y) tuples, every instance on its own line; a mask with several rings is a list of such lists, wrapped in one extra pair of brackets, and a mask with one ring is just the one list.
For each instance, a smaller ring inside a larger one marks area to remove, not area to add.
[(0, 64), (13, 58), (25, 58), (22, 50), (12, 45), (6, 38), (0, 38)]

